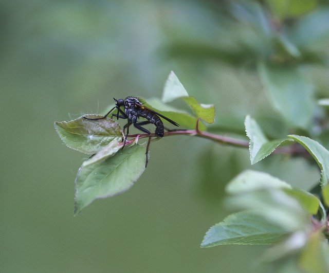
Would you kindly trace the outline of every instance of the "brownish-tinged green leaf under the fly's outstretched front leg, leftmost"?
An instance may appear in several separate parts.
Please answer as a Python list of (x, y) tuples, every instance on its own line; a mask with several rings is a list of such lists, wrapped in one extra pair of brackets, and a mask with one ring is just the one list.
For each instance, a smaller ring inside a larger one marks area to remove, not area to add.
[(68, 122), (55, 122), (55, 129), (67, 147), (86, 154), (95, 154), (112, 141), (119, 141), (122, 138), (120, 125), (110, 118), (88, 120), (79, 117)]

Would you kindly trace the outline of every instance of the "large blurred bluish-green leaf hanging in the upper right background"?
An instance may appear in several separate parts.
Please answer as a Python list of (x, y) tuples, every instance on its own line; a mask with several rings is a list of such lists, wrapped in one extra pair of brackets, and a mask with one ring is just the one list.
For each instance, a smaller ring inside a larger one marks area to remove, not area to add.
[(270, 66), (259, 62), (259, 74), (275, 108), (292, 125), (307, 129), (312, 121), (315, 103), (312, 86), (298, 67)]

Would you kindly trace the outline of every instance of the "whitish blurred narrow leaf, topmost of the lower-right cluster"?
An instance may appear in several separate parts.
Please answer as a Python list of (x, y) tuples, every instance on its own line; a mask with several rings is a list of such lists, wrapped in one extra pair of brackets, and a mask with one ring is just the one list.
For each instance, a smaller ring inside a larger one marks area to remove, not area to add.
[(260, 189), (291, 189), (291, 186), (267, 173), (246, 170), (234, 177), (225, 190), (229, 194), (240, 194)]

